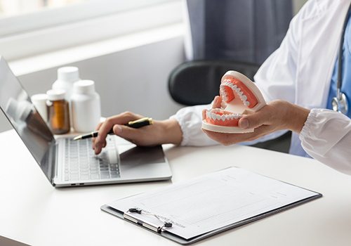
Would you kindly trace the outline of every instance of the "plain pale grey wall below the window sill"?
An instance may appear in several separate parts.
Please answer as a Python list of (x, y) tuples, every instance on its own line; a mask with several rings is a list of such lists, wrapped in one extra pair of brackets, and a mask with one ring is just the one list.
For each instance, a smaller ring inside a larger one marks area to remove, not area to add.
[[(182, 105), (168, 93), (168, 75), (184, 60), (183, 37), (158, 41), (124, 51), (82, 60), (82, 79), (93, 79), (101, 96), (102, 116), (130, 110), (154, 119), (164, 119)], [(58, 67), (19, 77), (29, 95), (44, 93), (55, 81)], [(0, 114), (0, 131), (11, 129)]]

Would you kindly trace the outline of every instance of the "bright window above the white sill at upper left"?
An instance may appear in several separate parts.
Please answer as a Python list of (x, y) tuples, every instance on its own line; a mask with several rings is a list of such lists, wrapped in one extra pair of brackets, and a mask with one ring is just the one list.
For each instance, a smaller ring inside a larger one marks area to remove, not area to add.
[(181, 19), (181, 0), (0, 0), (0, 55), (13, 60)]

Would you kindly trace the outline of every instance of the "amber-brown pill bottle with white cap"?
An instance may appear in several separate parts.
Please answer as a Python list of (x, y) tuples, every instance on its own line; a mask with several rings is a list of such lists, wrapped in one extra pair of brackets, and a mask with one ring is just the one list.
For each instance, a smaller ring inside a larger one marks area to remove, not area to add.
[(48, 126), (53, 134), (66, 134), (70, 130), (69, 103), (65, 100), (65, 91), (62, 89), (49, 90), (46, 92), (48, 101)]

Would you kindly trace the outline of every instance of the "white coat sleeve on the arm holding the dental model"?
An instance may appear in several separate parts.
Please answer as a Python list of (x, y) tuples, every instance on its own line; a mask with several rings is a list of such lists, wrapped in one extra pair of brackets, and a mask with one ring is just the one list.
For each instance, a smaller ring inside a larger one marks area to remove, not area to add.
[(351, 119), (339, 112), (312, 109), (300, 132), (304, 150), (314, 159), (351, 174)]

